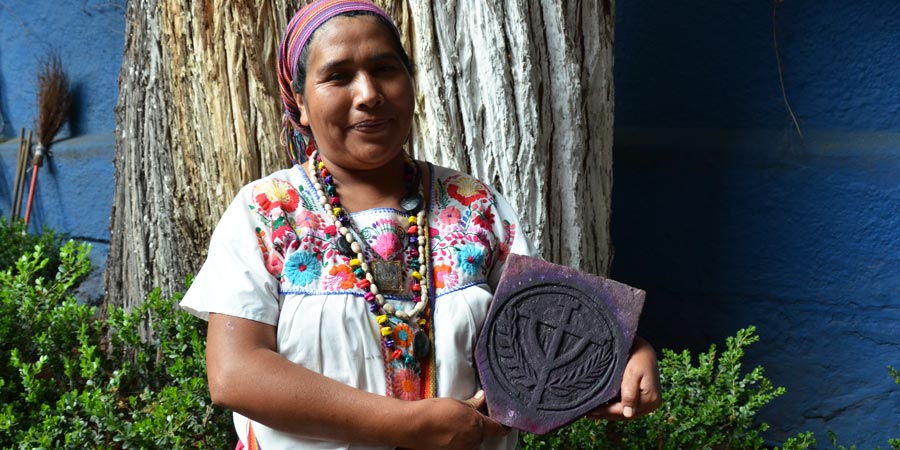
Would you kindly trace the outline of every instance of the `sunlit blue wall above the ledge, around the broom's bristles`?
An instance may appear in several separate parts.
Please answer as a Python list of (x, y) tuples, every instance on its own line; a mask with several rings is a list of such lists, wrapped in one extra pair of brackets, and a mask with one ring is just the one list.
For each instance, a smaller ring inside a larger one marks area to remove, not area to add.
[(37, 117), (37, 73), (48, 51), (62, 58), (76, 107), (60, 138), (112, 133), (125, 33), (125, 0), (0, 2), (2, 136)]

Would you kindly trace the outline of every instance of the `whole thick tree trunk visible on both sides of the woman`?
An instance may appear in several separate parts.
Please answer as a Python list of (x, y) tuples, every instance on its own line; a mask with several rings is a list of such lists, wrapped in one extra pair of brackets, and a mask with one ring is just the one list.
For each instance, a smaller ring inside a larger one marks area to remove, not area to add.
[[(129, 2), (108, 304), (182, 289), (237, 189), (288, 163), (275, 59), (303, 3)], [(417, 68), (415, 154), (501, 190), (547, 259), (605, 273), (613, 3), (378, 3)]]

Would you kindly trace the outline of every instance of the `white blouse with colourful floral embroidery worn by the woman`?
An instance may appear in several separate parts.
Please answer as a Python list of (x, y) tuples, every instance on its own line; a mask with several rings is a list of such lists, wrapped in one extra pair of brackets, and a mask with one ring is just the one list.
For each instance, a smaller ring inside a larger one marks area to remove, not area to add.
[[(506, 257), (533, 250), (515, 212), (491, 187), (443, 167), (429, 173), (435, 392), (467, 399), (479, 388), (475, 342)], [(405, 375), (386, 376), (380, 326), (355, 287), (348, 258), (326, 233), (323, 215), (329, 212), (317, 196), (299, 166), (242, 188), (216, 226), (181, 307), (203, 319), (212, 312), (275, 326), (278, 352), (288, 360), (358, 389), (398, 392), (388, 383), (402, 384)], [(389, 260), (402, 251), (404, 212), (376, 208), (352, 218), (369, 253)], [(397, 310), (413, 306), (406, 289), (386, 296)], [(234, 422), (249, 447), (251, 421), (234, 414)], [(387, 448), (309, 440), (257, 422), (252, 429), (263, 450)], [(516, 439), (510, 433), (484, 448), (513, 449)]]

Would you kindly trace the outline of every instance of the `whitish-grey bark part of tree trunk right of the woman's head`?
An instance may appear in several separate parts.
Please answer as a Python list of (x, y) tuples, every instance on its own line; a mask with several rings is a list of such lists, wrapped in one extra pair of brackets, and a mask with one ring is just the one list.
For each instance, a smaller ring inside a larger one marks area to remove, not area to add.
[(417, 153), (502, 191), (548, 260), (607, 273), (613, 3), (409, 5)]

